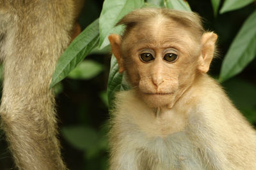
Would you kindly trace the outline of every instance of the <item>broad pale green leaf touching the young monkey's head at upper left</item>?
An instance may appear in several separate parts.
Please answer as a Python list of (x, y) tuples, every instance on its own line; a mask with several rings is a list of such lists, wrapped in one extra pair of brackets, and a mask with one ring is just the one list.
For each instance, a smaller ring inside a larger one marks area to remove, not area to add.
[(102, 49), (109, 45), (108, 36), (111, 33), (122, 31), (122, 27), (115, 27), (115, 24), (124, 15), (132, 10), (136, 10), (143, 6), (143, 0), (106, 0), (103, 3), (100, 13), (100, 43), (99, 48)]

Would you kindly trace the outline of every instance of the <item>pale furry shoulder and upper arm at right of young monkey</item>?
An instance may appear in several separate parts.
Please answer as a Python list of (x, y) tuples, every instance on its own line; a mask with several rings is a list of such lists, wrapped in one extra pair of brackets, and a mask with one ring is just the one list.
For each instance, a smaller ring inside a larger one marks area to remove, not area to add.
[(197, 83), (187, 126), (195, 147), (214, 169), (255, 168), (255, 130), (215, 80), (205, 75)]

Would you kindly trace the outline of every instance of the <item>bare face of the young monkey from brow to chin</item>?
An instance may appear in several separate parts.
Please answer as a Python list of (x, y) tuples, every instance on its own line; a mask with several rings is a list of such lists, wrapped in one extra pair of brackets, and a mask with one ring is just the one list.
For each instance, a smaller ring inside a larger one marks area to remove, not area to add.
[(148, 106), (172, 107), (193, 82), (195, 62), (175, 45), (141, 43), (124, 60), (132, 87), (138, 90), (139, 96)]

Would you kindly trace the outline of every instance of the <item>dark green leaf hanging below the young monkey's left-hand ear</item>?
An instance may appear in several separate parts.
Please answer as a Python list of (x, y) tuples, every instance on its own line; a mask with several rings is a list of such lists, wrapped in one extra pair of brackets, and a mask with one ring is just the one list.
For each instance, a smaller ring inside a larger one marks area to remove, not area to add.
[(116, 62), (115, 56), (111, 57), (111, 66), (108, 78), (108, 105), (111, 108), (113, 106), (113, 99), (115, 99), (115, 92), (121, 90), (128, 90), (129, 84), (124, 78), (124, 74), (118, 73), (118, 64)]

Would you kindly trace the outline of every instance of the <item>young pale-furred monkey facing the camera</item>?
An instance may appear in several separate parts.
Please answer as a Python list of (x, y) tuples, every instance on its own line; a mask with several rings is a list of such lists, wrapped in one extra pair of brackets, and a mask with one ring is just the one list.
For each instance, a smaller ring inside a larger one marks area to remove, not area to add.
[(256, 169), (255, 130), (207, 72), (214, 32), (188, 11), (125, 15), (111, 50), (131, 90), (111, 110), (109, 169)]

